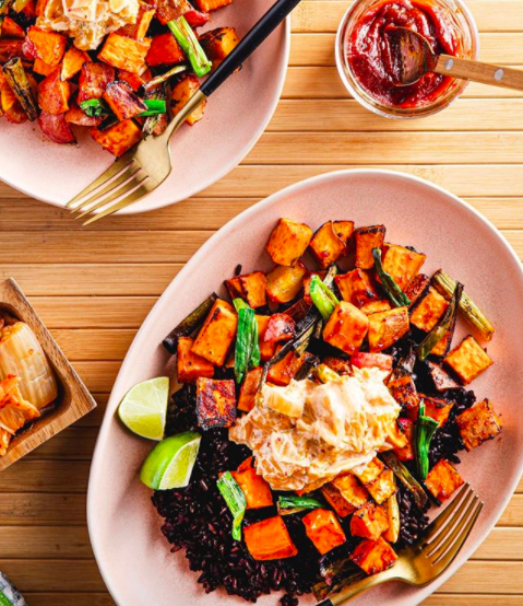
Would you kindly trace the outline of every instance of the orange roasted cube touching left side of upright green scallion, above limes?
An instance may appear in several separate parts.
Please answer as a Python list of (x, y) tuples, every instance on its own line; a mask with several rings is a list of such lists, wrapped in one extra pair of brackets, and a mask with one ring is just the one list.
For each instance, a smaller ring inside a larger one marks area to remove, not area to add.
[(217, 299), (198, 334), (192, 352), (205, 358), (215, 366), (223, 366), (237, 328), (238, 315), (233, 305)]

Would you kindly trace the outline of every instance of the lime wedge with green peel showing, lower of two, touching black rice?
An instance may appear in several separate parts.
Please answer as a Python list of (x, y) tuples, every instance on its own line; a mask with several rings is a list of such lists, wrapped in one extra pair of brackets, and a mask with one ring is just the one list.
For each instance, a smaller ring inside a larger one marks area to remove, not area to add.
[(154, 490), (186, 487), (191, 479), (201, 439), (195, 431), (186, 431), (162, 440), (145, 459), (140, 479)]

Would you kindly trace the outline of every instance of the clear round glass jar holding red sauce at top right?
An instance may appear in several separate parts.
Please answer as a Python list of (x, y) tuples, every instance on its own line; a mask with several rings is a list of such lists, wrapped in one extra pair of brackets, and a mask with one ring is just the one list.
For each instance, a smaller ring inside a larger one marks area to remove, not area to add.
[[(392, 1), (392, 0), (390, 0)], [(425, 0), (444, 13), (454, 30), (459, 45), (459, 57), (477, 59), (479, 55), (479, 34), (476, 23), (465, 3), (461, 0)], [(387, 105), (375, 98), (355, 75), (348, 58), (348, 44), (356, 24), (361, 18), (388, 0), (356, 0), (340, 23), (336, 35), (336, 66), (347, 91), (364, 107), (385, 118), (420, 118), (444, 109), (466, 89), (468, 81), (453, 79), (441, 95), (426, 104), (414, 107)]]

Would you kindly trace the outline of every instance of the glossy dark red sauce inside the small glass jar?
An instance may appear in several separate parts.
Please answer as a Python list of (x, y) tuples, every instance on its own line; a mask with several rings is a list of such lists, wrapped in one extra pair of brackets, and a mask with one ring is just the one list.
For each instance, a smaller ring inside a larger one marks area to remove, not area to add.
[(421, 34), (433, 53), (457, 55), (460, 43), (455, 26), (441, 7), (424, 0), (384, 0), (356, 22), (349, 34), (347, 58), (362, 89), (383, 105), (420, 107), (441, 96), (452, 78), (426, 73), (408, 86), (394, 85), (391, 48), (387, 27), (407, 27)]

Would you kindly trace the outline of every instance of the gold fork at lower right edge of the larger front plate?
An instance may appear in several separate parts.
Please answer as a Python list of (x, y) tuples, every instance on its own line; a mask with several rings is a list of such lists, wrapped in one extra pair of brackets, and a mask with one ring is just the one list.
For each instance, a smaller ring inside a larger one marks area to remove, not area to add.
[(427, 585), (443, 574), (454, 561), (471, 534), (483, 502), (468, 483), (426, 528), (424, 536), (400, 553), (392, 568), (366, 576), (317, 606), (341, 606), (361, 592), (387, 583), (403, 581), (409, 585)]

